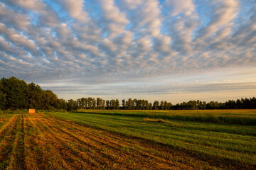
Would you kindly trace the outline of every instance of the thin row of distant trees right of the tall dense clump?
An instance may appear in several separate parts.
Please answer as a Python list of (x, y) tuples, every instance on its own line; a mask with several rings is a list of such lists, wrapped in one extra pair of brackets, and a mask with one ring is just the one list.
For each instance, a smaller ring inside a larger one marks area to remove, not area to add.
[(256, 98), (241, 98), (236, 101), (229, 100), (225, 103), (218, 101), (188, 101), (172, 105), (167, 101), (154, 101), (129, 98), (127, 101), (118, 99), (105, 101), (102, 98), (80, 98), (76, 101), (68, 100), (68, 110), (77, 109), (107, 109), (107, 110), (204, 110), (204, 109), (250, 109), (256, 108)]

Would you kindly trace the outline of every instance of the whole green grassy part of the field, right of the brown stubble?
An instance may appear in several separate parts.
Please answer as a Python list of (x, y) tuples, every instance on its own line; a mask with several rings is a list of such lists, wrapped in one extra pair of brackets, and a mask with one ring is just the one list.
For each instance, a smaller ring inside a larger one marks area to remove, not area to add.
[(256, 164), (255, 110), (77, 111), (53, 115), (142, 137), (202, 158)]

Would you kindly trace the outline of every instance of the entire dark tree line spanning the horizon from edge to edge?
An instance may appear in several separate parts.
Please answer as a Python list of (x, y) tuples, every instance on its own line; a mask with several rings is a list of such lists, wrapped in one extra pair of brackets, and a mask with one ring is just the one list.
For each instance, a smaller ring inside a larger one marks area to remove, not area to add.
[(167, 101), (154, 101), (150, 103), (145, 99), (129, 98), (103, 100), (102, 98), (78, 98), (65, 101), (58, 98), (50, 90), (43, 90), (38, 84), (25, 81), (16, 77), (0, 80), (0, 109), (28, 109), (36, 108), (42, 110), (67, 110), (78, 109), (107, 109), (107, 110), (203, 110), (203, 109), (250, 109), (256, 108), (256, 98), (241, 98), (226, 102), (210, 101), (188, 101), (173, 105)]

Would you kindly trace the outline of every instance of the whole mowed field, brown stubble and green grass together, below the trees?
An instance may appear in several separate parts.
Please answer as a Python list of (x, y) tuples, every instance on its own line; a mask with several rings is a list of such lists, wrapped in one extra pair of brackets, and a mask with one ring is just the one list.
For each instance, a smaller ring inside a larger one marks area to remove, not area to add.
[(256, 110), (1, 113), (0, 169), (256, 169)]

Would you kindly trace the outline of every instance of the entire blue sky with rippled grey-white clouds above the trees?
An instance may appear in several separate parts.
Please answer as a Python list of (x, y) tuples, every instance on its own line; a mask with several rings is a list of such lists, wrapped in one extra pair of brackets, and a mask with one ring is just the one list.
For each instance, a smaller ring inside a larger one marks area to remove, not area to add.
[(255, 0), (0, 0), (0, 76), (59, 98), (256, 96)]

